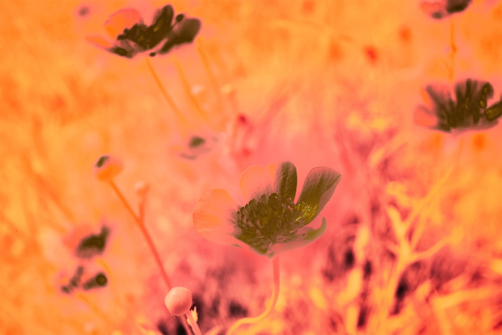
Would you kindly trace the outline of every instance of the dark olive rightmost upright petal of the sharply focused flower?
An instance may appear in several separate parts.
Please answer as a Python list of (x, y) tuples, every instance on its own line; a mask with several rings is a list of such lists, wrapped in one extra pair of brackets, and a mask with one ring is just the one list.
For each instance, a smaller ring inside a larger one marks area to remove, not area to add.
[(310, 170), (296, 206), (303, 212), (304, 223), (311, 222), (324, 208), (340, 182), (341, 175), (327, 167)]

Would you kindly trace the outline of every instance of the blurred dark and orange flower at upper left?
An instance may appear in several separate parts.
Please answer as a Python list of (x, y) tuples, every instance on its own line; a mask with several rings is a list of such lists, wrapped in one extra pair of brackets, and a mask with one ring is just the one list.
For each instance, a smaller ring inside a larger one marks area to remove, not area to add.
[(152, 25), (147, 26), (138, 11), (122, 9), (104, 23), (113, 42), (96, 35), (86, 39), (98, 47), (127, 58), (146, 51), (150, 51), (150, 56), (166, 54), (175, 46), (193, 42), (200, 30), (198, 19), (187, 19), (183, 14), (178, 14), (173, 23), (173, 17), (172, 6), (164, 6), (156, 12)]

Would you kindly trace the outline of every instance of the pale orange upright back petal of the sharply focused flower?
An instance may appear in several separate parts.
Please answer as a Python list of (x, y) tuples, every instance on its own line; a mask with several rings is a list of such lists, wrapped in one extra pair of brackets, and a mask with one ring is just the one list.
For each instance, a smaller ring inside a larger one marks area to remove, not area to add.
[(251, 166), (240, 176), (240, 190), (244, 195), (245, 202), (270, 194), (276, 190), (273, 188), (276, 175), (276, 167), (269, 165), (264, 168), (262, 166)]

